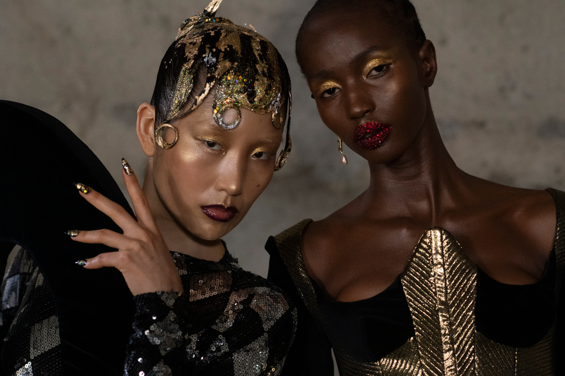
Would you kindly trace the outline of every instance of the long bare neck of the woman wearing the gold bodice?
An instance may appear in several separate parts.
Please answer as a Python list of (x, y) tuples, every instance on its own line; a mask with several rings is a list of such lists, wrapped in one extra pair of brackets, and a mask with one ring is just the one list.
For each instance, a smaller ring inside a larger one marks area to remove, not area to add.
[(438, 216), (468, 194), (464, 181), (471, 177), (447, 152), (429, 96), (427, 101), (424, 123), (407, 151), (389, 163), (369, 163), (371, 180), (364, 198), (372, 213), (416, 216), (435, 225)]

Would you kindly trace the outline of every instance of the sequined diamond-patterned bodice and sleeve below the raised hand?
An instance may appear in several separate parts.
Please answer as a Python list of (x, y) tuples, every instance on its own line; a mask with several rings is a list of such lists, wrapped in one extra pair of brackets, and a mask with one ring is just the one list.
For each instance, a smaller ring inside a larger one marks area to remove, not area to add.
[(280, 374), (296, 325), (281, 290), (227, 251), (219, 262), (179, 253), (173, 260), (185, 293), (134, 297), (125, 375)]

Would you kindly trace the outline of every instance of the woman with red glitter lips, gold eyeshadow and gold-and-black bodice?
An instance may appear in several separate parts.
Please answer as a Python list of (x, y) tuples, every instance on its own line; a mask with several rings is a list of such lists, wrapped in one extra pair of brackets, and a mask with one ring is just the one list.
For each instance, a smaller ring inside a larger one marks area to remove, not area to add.
[(455, 165), (429, 97), (436, 50), (410, 1), (318, 0), (296, 43), (321, 120), (371, 178), (327, 218), (267, 242), (269, 278), (303, 302), (284, 372), (333, 374), (331, 348), (341, 375), (553, 369), (562, 193)]

